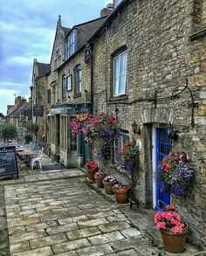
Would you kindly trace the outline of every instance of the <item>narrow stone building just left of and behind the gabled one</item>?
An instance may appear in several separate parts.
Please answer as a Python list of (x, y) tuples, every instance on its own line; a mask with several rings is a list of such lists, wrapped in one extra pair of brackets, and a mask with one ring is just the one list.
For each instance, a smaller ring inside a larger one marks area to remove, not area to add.
[(50, 65), (33, 61), (31, 85), (31, 114), (32, 121), (38, 123), (38, 142), (45, 146), (47, 142), (47, 77)]

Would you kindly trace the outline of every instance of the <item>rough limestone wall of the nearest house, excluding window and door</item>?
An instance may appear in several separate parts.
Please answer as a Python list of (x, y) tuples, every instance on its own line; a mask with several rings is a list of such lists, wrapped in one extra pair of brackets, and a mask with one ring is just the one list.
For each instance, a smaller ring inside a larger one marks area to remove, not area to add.
[[(189, 38), (194, 32), (193, 8), (192, 0), (130, 1), (94, 44), (93, 96), (97, 113), (107, 111), (115, 116), (114, 109), (119, 108), (120, 126), (130, 131), (131, 137), (133, 121), (142, 127), (141, 136), (136, 135), (143, 142), (136, 190), (144, 207), (151, 205), (153, 182), (153, 145), (148, 136), (152, 137), (154, 124), (171, 121), (179, 135), (173, 148), (187, 151), (195, 169), (187, 197), (175, 203), (189, 222), (190, 239), (206, 247), (206, 39), (205, 36)], [(115, 99), (112, 54), (124, 45), (127, 46), (127, 93)], [(186, 80), (194, 97), (194, 127), (189, 90), (173, 100), (169, 98), (176, 87), (186, 85)], [(110, 166), (106, 171), (128, 179)]]

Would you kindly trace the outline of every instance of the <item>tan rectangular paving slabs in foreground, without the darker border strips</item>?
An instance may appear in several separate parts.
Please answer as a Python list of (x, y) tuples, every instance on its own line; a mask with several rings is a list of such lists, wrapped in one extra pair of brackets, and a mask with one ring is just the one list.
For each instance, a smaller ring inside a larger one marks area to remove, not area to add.
[(115, 253), (115, 242), (140, 236), (115, 205), (81, 178), (4, 190), (10, 255), (104, 255)]

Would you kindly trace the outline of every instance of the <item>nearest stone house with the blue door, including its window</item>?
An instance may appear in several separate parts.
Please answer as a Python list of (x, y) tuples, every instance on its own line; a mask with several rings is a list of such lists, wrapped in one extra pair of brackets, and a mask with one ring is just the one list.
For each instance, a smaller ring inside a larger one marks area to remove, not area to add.
[[(141, 144), (135, 195), (141, 207), (175, 203), (189, 223), (189, 239), (206, 248), (206, 3), (196, 0), (115, 1), (115, 9), (88, 39), (93, 50), (93, 113), (118, 117), (121, 135), (114, 159), (102, 166), (121, 182), (123, 141)], [(87, 48), (88, 48), (87, 44)], [(63, 72), (64, 73), (64, 72)], [(63, 74), (62, 73), (62, 74)], [(132, 123), (139, 134), (134, 134)], [(178, 139), (168, 138), (168, 124)], [(186, 197), (164, 197), (155, 171), (170, 149), (186, 151), (195, 170)]]

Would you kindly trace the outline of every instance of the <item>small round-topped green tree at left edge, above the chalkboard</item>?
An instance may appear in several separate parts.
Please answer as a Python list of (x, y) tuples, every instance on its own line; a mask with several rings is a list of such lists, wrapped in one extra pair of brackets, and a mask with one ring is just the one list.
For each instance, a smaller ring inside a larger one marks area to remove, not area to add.
[(9, 122), (3, 122), (0, 124), (0, 136), (3, 138), (3, 141), (6, 141), (9, 145), (9, 140), (17, 137), (16, 125)]

